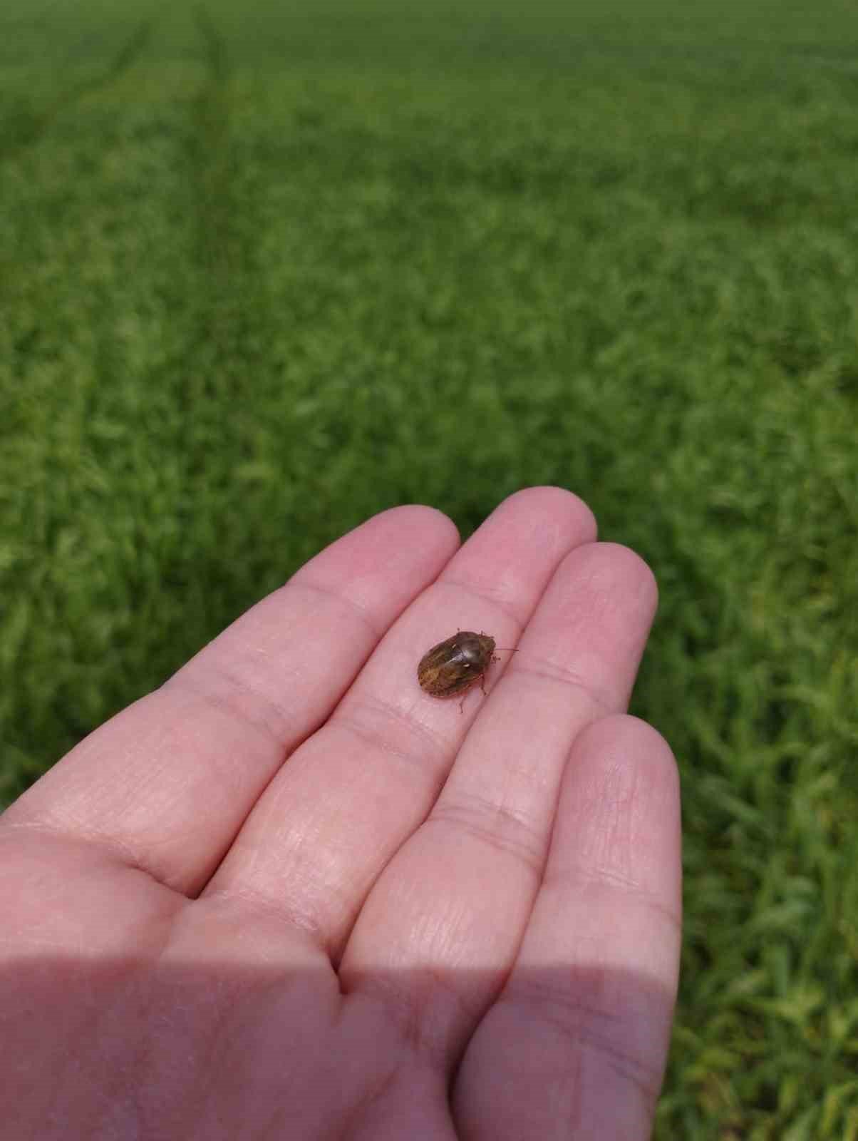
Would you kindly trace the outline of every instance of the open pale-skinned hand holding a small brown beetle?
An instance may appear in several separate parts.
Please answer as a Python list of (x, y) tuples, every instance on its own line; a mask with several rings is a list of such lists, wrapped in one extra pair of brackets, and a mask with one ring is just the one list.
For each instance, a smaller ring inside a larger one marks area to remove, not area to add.
[[(275, 557), (275, 555), (273, 555)], [(370, 519), (0, 817), (17, 1141), (639, 1141), (680, 946), (646, 565), (559, 488)], [(464, 711), (416, 663), (502, 655)]]

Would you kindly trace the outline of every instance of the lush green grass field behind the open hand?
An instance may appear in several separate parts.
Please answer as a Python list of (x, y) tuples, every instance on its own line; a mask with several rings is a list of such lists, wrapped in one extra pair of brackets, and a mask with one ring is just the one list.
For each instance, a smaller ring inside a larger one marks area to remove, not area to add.
[(858, 9), (420, 11), (3, 5), (0, 795), (366, 516), (569, 487), (661, 585), (657, 1136), (856, 1141)]

